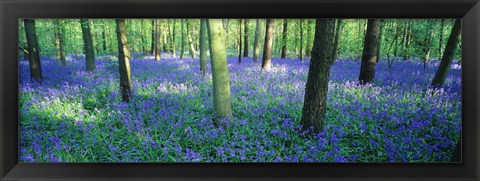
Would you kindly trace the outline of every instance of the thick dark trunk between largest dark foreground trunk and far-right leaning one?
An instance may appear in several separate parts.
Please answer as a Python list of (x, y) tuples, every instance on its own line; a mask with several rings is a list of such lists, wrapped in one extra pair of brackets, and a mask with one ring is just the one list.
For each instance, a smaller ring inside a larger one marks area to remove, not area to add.
[(367, 20), (367, 33), (363, 44), (362, 65), (358, 80), (361, 84), (370, 83), (375, 78), (377, 49), (380, 38), (380, 19)]

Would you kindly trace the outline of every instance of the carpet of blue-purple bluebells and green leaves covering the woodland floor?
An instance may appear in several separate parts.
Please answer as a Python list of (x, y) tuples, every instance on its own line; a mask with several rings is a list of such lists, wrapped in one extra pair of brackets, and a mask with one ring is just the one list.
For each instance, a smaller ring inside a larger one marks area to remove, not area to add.
[[(199, 60), (163, 55), (131, 61), (133, 98), (123, 103), (116, 57), (97, 70), (68, 57), (42, 58), (44, 82), (20, 61), (20, 162), (441, 162), (461, 132), (461, 68), (443, 89), (428, 85), (438, 61), (377, 64), (374, 85), (357, 84), (360, 61), (337, 60), (327, 120), (300, 131), (308, 59), (228, 60), (234, 119), (213, 124), (212, 78)], [(207, 68), (210, 72), (210, 65)]]

